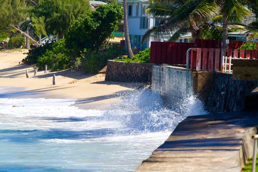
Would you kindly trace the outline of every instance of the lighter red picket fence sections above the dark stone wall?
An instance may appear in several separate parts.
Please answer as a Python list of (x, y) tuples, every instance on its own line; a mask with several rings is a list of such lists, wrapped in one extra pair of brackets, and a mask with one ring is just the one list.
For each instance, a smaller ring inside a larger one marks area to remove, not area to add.
[[(257, 50), (234, 50), (227, 49), (227, 57), (258, 59)], [(221, 71), (221, 49), (218, 48), (193, 48), (189, 55), (191, 70), (196, 71)]]

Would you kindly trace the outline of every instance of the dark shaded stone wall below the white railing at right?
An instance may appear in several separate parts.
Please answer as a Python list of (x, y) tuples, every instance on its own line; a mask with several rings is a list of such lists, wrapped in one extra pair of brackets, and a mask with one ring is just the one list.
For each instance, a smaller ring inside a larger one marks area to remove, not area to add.
[(211, 113), (242, 111), (245, 97), (256, 87), (258, 81), (236, 81), (232, 80), (231, 74), (215, 73), (206, 103), (207, 109)]

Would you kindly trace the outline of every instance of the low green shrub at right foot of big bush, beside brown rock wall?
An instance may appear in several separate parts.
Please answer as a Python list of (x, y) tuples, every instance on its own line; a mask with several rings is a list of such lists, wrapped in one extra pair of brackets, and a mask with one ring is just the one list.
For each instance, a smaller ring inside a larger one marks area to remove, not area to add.
[(86, 73), (97, 73), (107, 65), (107, 60), (121, 56), (125, 53), (124, 49), (118, 46), (110, 46), (105, 50), (86, 52), (82, 55), (82, 67)]

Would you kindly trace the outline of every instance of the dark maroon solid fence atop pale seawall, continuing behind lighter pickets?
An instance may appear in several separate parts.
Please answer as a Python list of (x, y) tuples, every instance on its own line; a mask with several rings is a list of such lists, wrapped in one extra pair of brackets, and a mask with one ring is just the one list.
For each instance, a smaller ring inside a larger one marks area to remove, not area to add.
[[(189, 48), (221, 49), (221, 46), (222, 46), (221, 42), (222, 41), (218, 41), (218, 40), (203, 40), (203, 39), (197, 39), (195, 43), (151, 42), (150, 62), (157, 63), (157, 64), (186, 64), (186, 52)], [(245, 42), (243, 41), (230, 41), (229, 51), (230, 49), (231, 50), (238, 49), (244, 43)], [(243, 54), (243, 52), (244, 51), (242, 52), (240, 51), (238, 52), (238, 54), (239, 55), (241, 53)], [(243, 54), (243, 56), (249, 57), (251, 56), (251, 54), (247, 51), (246, 53)]]

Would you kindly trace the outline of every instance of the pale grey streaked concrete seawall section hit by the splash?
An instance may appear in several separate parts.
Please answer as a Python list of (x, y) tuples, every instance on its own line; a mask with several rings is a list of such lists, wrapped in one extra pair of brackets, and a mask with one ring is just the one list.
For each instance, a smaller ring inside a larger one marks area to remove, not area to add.
[(186, 78), (189, 76), (189, 94), (193, 92), (192, 72), (186, 68), (176, 66), (153, 66), (152, 90), (159, 93), (167, 105), (176, 105), (186, 96)]

